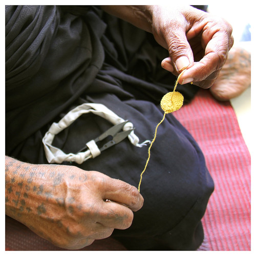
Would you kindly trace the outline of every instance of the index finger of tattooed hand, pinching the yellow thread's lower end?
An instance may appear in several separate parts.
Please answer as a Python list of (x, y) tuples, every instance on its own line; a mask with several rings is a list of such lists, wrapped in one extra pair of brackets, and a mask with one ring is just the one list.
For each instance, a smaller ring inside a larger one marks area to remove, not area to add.
[(144, 201), (136, 187), (112, 178), (106, 180), (102, 193), (104, 199), (124, 204), (133, 211), (139, 210)]

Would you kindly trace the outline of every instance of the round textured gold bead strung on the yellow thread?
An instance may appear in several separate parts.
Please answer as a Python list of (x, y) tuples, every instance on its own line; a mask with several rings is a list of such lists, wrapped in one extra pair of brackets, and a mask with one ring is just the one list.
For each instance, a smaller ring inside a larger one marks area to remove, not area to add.
[(166, 93), (161, 100), (161, 108), (165, 113), (179, 110), (183, 105), (184, 97), (179, 92)]

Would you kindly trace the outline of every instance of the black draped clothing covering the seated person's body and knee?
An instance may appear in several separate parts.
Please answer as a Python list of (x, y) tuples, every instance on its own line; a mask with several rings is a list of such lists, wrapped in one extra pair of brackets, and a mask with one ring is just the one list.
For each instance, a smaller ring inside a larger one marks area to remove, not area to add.
[[(7, 6), (6, 154), (47, 163), (42, 137), (53, 121), (84, 102), (102, 103), (129, 119), (140, 142), (152, 139), (163, 116), (160, 99), (176, 79), (161, 68), (167, 54), (151, 34), (98, 7)], [(189, 102), (197, 87), (177, 90)], [(83, 115), (54, 145), (76, 152), (110, 126)], [(138, 186), (146, 159), (147, 147), (125, 139), (76, 165)], [(130, 250), (195, 250), (203, 241), (200, 220), (213, 187), (199, 146), (168, 114), (143, 176), (144, 205), (129, 229), (112, 236)]]

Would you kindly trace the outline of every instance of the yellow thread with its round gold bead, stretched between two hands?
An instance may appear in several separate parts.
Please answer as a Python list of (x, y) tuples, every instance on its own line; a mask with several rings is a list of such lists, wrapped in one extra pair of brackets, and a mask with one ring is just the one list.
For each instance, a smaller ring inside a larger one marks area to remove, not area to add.
[[(154, 143), (154, 141), (156, 140), (156, 137), (157, 137), (158, 126), (163, 122), (166, 114), (174, 112), (174, 111), (180, 109), (182, 104), (183, 104), (183, 96), (182, 96), (182, 94), (179, 93), (179, 92), (175, 92), (175, 90), (176, 90), (177, 84), (179, 82), (180, 76), (183, 74), (184, 71), (185, 70), (183, 70), (180, 73), (180, 75), (178, 76), (178, 78), (176, 80), (176, 83), (175, 83), (174, 91), (166, 93), (163, 96), (162, 100), (161, 100), (161, 108), (164, 111), (163, 119), (157, 124), (154, 138), (153, 138), (153, 140), (152, 140), (152, 142), (150, 144), (150, 147), (148, 147), (148, 158), (146, 160), (145, 167), (144, 167), (142, 173), (140, 174), (140, 182), (139, 182), (139, 186), (138, 186), (139, 192), (140, 192), (140, 185), (141, 185), (141, 181), (142, 181), (142, 175), (144, 174), (144, 172), (146, 170), (146, 167), (147, 167), (147, 164), (150, 161), (150, 150), (151, 150), (151, 147), (152, 147), (152, 145), (153, 145), (153, 143)], [(174, 99), (173, 99), (173, 97), (174, 97)]]

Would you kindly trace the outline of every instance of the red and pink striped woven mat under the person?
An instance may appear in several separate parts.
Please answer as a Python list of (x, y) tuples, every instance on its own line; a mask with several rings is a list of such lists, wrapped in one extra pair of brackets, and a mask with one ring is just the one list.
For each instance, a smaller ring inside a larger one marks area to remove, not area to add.
[[(215, 181), (203, 218), (205, 240), (199, 250), (250, 250), (250, 154), (229, 102), (218, 102), (208, 90), (174, 112), (204, 152)], [(109, 238), (82, 250), (124, 250)], [(6, 219), (6, 250), (61, 250), (24, 225)]]

